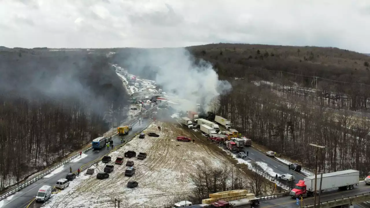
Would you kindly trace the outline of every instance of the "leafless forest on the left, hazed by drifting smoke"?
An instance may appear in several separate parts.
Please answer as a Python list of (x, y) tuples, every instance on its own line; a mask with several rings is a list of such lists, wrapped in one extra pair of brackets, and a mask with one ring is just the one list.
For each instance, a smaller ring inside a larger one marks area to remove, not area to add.
[(1, 189), (88, 144), (127, 103), (105, 54), (6, 49), (0, 70)]

